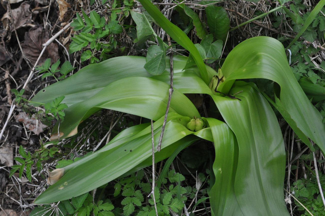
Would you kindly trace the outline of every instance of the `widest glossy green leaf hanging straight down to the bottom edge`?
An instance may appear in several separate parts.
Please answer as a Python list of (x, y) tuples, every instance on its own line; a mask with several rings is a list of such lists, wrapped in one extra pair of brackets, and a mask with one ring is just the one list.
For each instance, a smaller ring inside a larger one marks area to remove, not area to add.
[[(247, 216), (266, 212), (289, 215), (283, 196), (285, 149), (278, 120), (266, 99), (247, 83), (237, 81), (229, 93), (238, 93), (241, 101), (216, 95), (212, 98), (238, 142), (234, 192), (240, 211)], [(240, 211), (224, 215), (240, 215)]]

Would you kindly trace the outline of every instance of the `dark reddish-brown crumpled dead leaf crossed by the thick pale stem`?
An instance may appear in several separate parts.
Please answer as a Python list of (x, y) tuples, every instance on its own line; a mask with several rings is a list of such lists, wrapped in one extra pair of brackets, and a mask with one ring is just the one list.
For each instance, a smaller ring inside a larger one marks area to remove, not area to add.
[[(43, 29), (43, 27), (38, 27), (37, 29), (32, 28), (25, 33), (25, 41), (21, 44), (21, 47), (26, 55), (26, 58), (35, 64), (38, 56), (40, 55), (44, 44), (49, 39), (48, 33)], [(38, 62), (38, 64), (44, 63), (44, 61), (50, 58), (51, 63), (56, 62), (59, 59), (58, 45), (51, 43), (46, 47), (45, 52)]]

